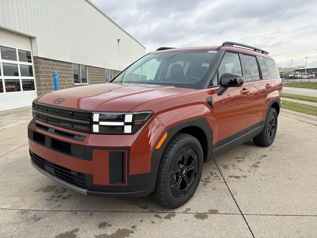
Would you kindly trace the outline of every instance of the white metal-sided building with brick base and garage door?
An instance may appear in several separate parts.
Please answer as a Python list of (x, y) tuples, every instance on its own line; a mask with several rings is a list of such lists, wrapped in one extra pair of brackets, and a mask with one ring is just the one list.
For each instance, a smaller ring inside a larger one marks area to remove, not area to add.
[[(0, 48), (0, 111), (52, 91), (53, 71), (61, 88), (102, 83), (145, 54), (89, 0), (1, 0)], [(31, 59), (21, 61), (19, 52)], [(24, 65), (32, 67), (26, 74)]]

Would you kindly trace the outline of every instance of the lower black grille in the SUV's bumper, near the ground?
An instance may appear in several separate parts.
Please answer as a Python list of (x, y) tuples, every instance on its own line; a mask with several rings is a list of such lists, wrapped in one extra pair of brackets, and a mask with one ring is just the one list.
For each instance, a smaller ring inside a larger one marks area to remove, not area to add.
[(55, 175), (59, 179), (62, 179), (66, 182), (79, 187), (87, 188), (86, 174), (53, 164), (52, 162), (47, 161), (42, 157), (34, 154), (32, 151), (30, 151), (30, 156), (32, 161), (41, 169)]

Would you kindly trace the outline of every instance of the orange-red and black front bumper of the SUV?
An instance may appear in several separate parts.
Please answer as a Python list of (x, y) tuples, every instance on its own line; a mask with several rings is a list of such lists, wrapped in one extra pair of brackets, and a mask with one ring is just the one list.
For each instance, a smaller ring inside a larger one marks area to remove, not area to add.
[(134, 135), (74, 132), (33, 119), (28, 125), (32, 165), (80, 193), (141, 197), (156, 184), (152, 152), (165, 127), (156, 118)]

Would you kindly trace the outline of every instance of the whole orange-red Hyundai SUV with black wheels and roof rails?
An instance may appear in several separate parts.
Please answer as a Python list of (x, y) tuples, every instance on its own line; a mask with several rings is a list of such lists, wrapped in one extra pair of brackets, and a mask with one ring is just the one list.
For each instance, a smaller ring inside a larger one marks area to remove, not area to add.
[(251, 138), (272, 144), (281, 90), (264, 50), (162, 47), (110, 83), (34, 100), (31, 163), (80, 193), (150, 195), (176, 208), (195, 193), (203, 163)]

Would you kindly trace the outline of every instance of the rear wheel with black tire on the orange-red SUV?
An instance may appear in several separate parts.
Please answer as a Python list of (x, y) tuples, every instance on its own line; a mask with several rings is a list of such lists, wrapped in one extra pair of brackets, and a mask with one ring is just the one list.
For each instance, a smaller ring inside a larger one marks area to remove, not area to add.
[(253, 137), (253, 142), (258, 146), (268, 147), (275, 138), (277, 130), (277, 113), (274, 108), (270, 108), (266, 116), (262, 132)]

